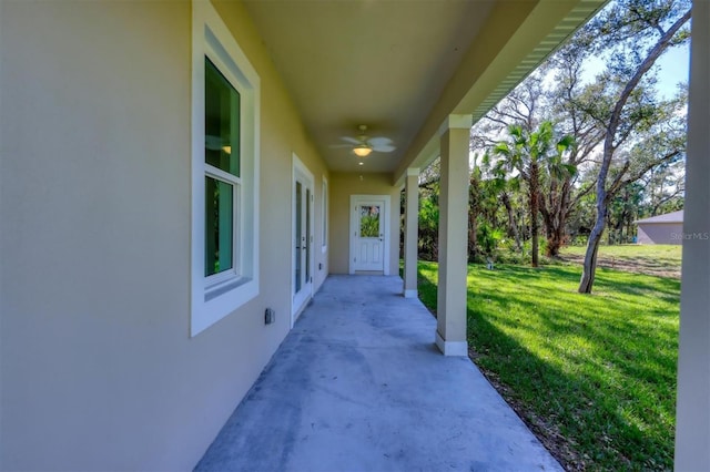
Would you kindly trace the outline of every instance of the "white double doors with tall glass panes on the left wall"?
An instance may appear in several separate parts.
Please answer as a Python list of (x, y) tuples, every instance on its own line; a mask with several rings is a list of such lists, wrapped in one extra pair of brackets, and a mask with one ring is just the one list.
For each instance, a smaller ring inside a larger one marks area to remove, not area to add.
[(293, 156), (293, 232), (291, 322), (313, 295), (313, 174)]

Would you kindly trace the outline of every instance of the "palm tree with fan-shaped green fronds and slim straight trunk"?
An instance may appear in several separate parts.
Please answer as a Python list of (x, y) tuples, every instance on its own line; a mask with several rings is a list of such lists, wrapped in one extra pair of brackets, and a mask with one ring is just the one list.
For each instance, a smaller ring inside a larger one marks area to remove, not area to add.
[(530, 212), (530, 237), (532, 239), (532, 267), (539, 264), (538, 214), (542, 181), (558, 182), (574, 166), (562, 161), (562, 154), (572, 146), (570, 135), (557, 142), (552, 123), (545, 121), (536, 131), (529, 132), (518, 124), (508, 126), (508, 140), (495, 145), (493, 153), (500, 157), (498, 166), (508, 173), (517, 173), (528, 184), (528, 209)]

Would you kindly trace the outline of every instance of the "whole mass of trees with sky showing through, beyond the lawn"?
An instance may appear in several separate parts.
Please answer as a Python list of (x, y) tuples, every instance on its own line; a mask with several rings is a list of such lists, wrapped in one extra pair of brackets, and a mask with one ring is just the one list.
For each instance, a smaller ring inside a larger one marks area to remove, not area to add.
[[(504, 248), (537, 264), (538, 246), (557, 257), (586, 238), (579, 290), (588, 293), (602, 235), (630, 242), (633, 220), (682, 208), (687, 86), (663, 95), (657, 72), (689, 40), (690, 14), (689, 0), (612, 1), (474, 126), (469, 260)], [(420, 179), (427, 258), (435, 168)]]

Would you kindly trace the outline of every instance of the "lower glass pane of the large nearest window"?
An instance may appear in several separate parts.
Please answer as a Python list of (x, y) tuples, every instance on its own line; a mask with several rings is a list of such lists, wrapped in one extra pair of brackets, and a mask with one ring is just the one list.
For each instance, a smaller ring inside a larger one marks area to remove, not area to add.
[(204, 275), (207, 277), (233, 266), (234, 187), (205, 177), (204, 203)]

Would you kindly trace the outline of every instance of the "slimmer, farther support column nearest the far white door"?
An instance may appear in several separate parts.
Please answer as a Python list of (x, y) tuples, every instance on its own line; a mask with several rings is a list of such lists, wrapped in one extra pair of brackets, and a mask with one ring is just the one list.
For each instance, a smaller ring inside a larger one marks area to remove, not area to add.
[(417, 247), (419, 238), (419, 170), (407, 168), (404, 214), (404, 297), (417, 298)]

